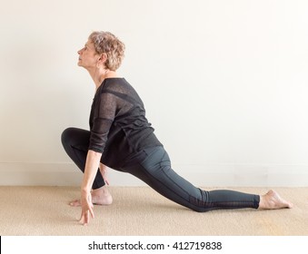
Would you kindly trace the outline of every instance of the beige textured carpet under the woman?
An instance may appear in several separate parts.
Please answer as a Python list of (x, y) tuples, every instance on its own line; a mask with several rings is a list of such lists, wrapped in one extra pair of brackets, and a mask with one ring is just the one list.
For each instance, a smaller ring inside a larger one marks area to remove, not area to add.
[[(0, 187), (2, 236), (300, 236), (308, 235), (308, 188), (275, 188), (292, 210), (214, 210), (197, 213), (148, 187), (110, 188), (114, 203), (95, 206), (84, 227), (79, 208), (68, 206), (79, 187)], [(265, 188), (233, 188), (261, 194)]]

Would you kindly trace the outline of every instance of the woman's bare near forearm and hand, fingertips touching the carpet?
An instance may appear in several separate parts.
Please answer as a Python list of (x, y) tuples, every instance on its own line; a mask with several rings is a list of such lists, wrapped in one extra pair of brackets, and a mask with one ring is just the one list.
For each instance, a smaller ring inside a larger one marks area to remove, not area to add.
[(84, 168), (84, 179), (81, 185), (81, 206), (82, 213), (80, 222), (87, 225), (90, 221), (89, 213), (94, 218), (93, 203), (91, 200), (91, 190), (94, 182), (97, 169), (102, 157), (102, 153), (97, 151), (89, 150), (86, 156), (85, 168)]

